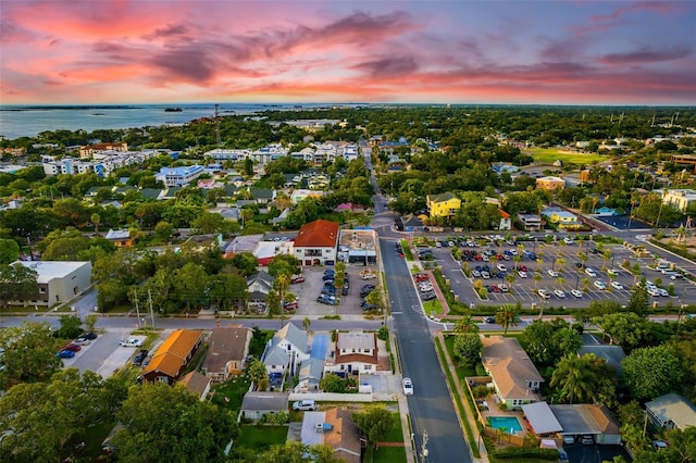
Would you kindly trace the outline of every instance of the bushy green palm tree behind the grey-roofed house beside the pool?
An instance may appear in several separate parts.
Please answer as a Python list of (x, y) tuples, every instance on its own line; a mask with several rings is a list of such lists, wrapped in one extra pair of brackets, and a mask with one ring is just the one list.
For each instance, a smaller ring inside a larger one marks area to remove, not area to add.
[(550, 386), (560, 387), (561, 397), (570, 403), (585, 403), (592, 401), (600, 379), (588, 355), (568, 355), (556, 365)]

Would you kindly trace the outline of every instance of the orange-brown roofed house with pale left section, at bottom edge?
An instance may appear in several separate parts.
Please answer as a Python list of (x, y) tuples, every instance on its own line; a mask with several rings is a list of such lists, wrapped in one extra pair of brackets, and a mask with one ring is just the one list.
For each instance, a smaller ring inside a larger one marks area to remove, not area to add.
[(358, 425), (348, 410), (304, 412), (300, 440), (306, 446), (327, 445), (334, 449), (334, 456), (346, 463), (362, 461)]

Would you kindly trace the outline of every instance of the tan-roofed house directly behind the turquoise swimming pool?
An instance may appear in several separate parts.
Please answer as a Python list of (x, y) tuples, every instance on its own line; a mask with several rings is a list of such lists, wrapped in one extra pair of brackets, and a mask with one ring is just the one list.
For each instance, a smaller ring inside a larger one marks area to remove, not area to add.
[(482, 363), (500, 403), (510, 410), (538, 402), (544, 377), (515, 338), (483, 337)]

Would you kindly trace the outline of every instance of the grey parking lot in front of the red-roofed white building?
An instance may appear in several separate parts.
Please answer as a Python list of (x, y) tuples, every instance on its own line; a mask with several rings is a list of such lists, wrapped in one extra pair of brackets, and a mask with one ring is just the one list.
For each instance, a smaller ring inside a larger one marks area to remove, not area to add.
[[(330, 305), (318, 302), (324, 286), (324, 271), (333, 267), (307, 267), (302, 270), (304, 281), (290, 285), (288, 291), (297, 296), (297, 315), (362, 315), (364, 310), (360, 306), (362, 298), (360, 289), (364, 285), (381, 285), (376, 265), (364, 266), (362, 264), (346, 264), (346, 275), (348, 276), (348, 290), (346, 295), (340, 289), (336, 290), (336, 304)], [(374, 278), (363, 279), (361, 272), (369, 271), (375, 275)]]

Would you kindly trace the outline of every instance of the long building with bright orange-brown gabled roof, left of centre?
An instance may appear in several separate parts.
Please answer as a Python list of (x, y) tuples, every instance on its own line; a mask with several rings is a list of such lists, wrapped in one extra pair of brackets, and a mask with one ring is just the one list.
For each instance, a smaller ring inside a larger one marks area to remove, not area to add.
[(201, 343), (199, 331), (177, 329), (162, 342), (142, 371), (145, 380), (174, 384)]

